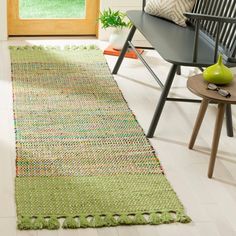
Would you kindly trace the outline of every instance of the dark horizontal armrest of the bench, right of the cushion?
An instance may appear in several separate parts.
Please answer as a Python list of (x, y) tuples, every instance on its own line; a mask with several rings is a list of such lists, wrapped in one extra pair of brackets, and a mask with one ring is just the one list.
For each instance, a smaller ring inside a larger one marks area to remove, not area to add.
[(216, 21), (221, 23), (236, 23), (236, 18), (232, 17), (222, 17), (222, 16), (212, 16), (212, 15), (206, 15), (206, 14), (197, 14), (197, 13), (190, 13), (185, 12), (184, 16), (186, 16), (189, 19), (195, 19), (195, 20), (209, 20), (209, 21)]

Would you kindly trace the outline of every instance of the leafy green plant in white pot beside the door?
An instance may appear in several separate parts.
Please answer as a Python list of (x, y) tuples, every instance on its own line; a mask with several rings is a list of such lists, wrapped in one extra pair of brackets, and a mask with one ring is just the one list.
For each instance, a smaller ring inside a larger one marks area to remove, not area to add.
[(131, 22), (126, 20), (126, 14), (120, 11), (112, 11), (110, 8), (100, 12), (100, 17), (98, 18), (102, 24), (102, 28), (106, 29), (109, 27), (114, 28), (129, 28), (131, 27)]

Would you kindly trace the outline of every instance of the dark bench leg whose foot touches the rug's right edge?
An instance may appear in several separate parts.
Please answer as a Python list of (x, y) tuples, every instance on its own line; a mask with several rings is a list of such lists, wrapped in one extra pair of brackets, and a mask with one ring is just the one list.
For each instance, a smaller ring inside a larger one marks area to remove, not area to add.
[(148, 133), (147, 133), (147, 137), (148, 137), (148, 138), (152, 138), (152, 137), (153, 137), (153, 134), (154, 134), (154, 132), (155, 132), (155, 130), (156, 130), (158, 121), (159, 121), (159, 119), (160, 119), (162, 110), (163, 110), (164, 105), (165, 105), (165, 102), (166, 102), (166, 98), (167, 98), (167, 96), (168, 96), (168, 93), (169, 93), (169, 91), (170, 91), (170, 87), (171, 87), (172, 82), (173, 82), (173, 80), (174, 80), (177, 67), (178, 67), (178, 66), (175, 65), (175, 64), (173, 64), (173, 65), (171, 66), (170, 72), (169, 72), (168, 77), (167, 77), (167, 79), (166, 79), (164, 88), (163, 88), (162, 93), (161, 93), (161, 97), (160, 97), (160, 99), (159, 99), (159, 102), (158, 102), (158, 105), (157, 105), (157, 107), (156, 107), (154, 116), (153, 116), (153, 118), (152, 118), (151, 125), (150, 125), (149, 130), (148, 130)]

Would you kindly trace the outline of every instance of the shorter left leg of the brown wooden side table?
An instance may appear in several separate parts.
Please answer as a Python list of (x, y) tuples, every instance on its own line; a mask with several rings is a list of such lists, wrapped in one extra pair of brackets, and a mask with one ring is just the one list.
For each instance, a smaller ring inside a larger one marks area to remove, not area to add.
[(198, 115), (197, 115), (197, 119), (196, 119), (196, 122), (195, 122), (195, 125), (194, 125), (194, 128), (193, 128), (193, 133), (192, 133), (189, 145), (188, 145), (189, 149), (193, 148), (193, 145), (196, 141), (199, 129), (201, 127), (203, 118), (204, 118), (205, 113), (206, 113), (206, 109), (208, 107), (208, 103), (209, 103), (209, 100), (207, 100), (205, 98), (202, 100), (202, 103), (201, 103), (201, 106), (200, 106), (200, 109), (199, 109), (199, 112), (198, 112)]

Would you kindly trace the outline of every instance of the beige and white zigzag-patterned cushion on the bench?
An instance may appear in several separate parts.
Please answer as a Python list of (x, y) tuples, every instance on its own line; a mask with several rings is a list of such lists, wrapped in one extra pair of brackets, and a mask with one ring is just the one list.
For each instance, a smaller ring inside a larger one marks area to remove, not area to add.
[(184, 12), (191, 12), (196, 0), (149, 0), (145, 12), (186, 27)]

